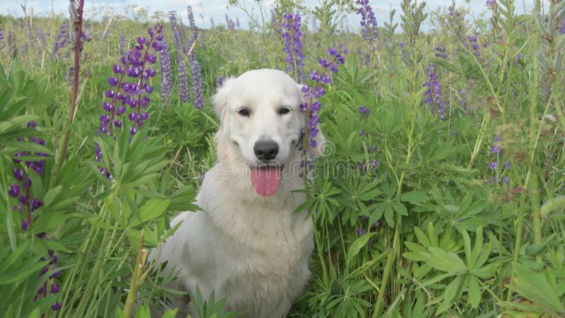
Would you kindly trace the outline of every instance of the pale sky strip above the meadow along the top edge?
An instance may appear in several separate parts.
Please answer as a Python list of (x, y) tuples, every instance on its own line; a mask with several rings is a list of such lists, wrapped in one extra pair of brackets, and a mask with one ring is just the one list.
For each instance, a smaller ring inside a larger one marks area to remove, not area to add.
[[(309, 8), (319, 6), (321, 0), (304, 0), (303, 4)], [(155, 11), (177, 11), (181, 18), (186, 22), (186, 6), (192, 6), (196, 25), (198, 28), (210, 28), (210, 18), (215, 21), (215, 24), (225, 24), (225, 14), (236, 20), (240, 21), (241, 28), (247, 28), (249, 19), (239, 8), (227, 8), (227, 0), (85, 0), (85, 17), (91, 18), (93, 12), (100, 13), (100, 8), (112, 13), (128, 15), (126, 8), (135, 8), (141, 6), (148, 10), (148, 13)], [(245, 3), (249, 8), (254, 8), (254, 14), (258, 15), (258, 9), (255, 6), (254, 0), (240, 0), (240, 3)], [(263, 7), (268, 11), (273, 4), (274, 0), (263, 0)], [(486, 0), (458, 0), (457, 6), (468, 8), (472, 16), (480, 17), (482, 14), (488, 14)], [(548, 0), (545, 0), (547, 6)], [(516, 0), (516, 13), (530, 13), (533, 8), (534, 0)], [(391, 8), (396, 8), (396, 22), (400, 16), (400, 0), (393, 1), (369, 1), (371, 4), (376, 20), (379, 26), (383, 26), (384, 21), (388, 21), (388, 16)], [(54, 13), (67, 14), (69, 1), (68, 0), (0, 0), (0, 14), (11, 16), (23, 16), (22, 6), (27, 8), (28, 13), (30, 8), (33, 8), (34, 16), (50, 16)], [(428, 0), (427, 11), (431, 12), (439, 7), (451, 6), (451, 0)], [(547, 6), (549, 7), (549, 6)], [(89, 16), (90, 15), (90, 16)], [(472, 19), (472, 16), (468, 17)], [(428, 19), (429, 21), (429, 19)], [(359, 16), (355, 13), (347, 16), (347, 24), (354, 28), (359, 25)], [(429, 28), (429, 25), (424, 25), (424, 30)], [(397, 29), (399, 30), (399, 29)]]

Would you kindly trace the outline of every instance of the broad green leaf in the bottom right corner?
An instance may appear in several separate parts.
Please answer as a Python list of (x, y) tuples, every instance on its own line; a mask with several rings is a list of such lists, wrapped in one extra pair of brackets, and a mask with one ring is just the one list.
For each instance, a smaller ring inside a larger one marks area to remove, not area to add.
[(565, 313), (556, 291), (544, 276), (520, 263), (513, 262), (512, 268), (516, 278), (513, 278), (511, 284), (517, 293), (549, 310)]

